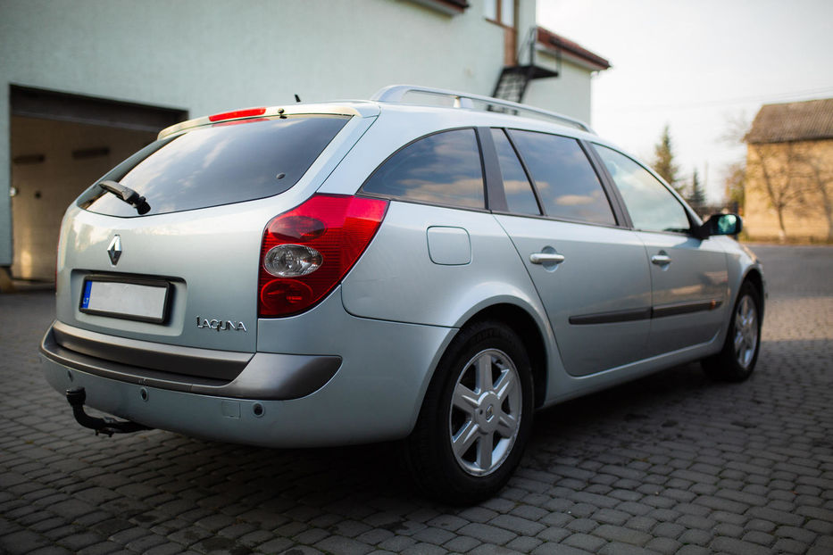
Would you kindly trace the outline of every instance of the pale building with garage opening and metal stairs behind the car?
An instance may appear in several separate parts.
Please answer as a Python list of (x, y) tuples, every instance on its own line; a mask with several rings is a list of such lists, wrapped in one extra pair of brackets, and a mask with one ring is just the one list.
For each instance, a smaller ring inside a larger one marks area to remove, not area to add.
[(589, 120), (591, 76), (609, 64), (542, 42), (535, 10), (535, 0), (0, 0), (0, 274), (52, 279), (65, 207), (190, 117), (295, 95), (368, 98), (394, 83), (493, 95), (533, 37), (533, 64), (549, 73), (521, 100)]

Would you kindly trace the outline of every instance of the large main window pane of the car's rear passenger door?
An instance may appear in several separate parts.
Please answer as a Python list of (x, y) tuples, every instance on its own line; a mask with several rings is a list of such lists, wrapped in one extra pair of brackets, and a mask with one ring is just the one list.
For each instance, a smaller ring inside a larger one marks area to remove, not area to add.
[(616, 223), (602, 183), (576, 139), (518, 129), (509, 134), (535, 182), (547, 216)]

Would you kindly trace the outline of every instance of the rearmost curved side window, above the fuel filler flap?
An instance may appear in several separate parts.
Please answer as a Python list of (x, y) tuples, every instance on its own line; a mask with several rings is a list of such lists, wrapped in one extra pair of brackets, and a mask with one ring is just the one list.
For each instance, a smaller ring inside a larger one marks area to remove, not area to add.
[(405, 145), (373, 172), (362, 191), (419, 203), (485, 208), (474, 129), (444, 131)]

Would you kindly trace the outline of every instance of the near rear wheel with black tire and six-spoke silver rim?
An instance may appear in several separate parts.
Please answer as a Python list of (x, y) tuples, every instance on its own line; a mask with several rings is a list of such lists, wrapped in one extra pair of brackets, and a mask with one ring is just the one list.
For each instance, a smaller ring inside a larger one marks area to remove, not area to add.
[(440, 360), (404, 460), (423, 493), (454, 505), (493, 497), (521, 461), (532, 426), (532, 371), (501, 322), (461, 329)]

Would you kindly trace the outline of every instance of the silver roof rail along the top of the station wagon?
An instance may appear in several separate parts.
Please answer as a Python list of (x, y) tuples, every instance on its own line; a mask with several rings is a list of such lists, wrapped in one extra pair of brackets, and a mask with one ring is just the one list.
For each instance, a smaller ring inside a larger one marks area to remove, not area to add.
[(593, 133), (596, 135), (596, 131), (590, 128), (590, 126), (588, 126), (584, 121), (576, 120), (575, 118), (565, 116), (561, 113), (549, 112), (547, 110), (541, 110), (540, 108), (528, 106), (527, 104), (518, 104), (509, 100), (492, 98), (491, 96), (470, 95), (469, 93), (460, 93), (457, 91), (446, 90), (444, 88), (420, 87), (418, 85), (389, 85), (376, 91), (376, 94), (371, 96), (371, 100), (376, 102), (401, 103), (403, 102), (404, 96), (409, 93), (453, 98), (454, 108), (477, 110), (478, 106), (475, 105), (475, 102), (477, 102), (485, 104), (483, 109), (489, 112), (514, 113), (514, 115), (521, 115), (522, 112), (526, 112), (526, 114), (529, 114), (532, 117), (537, 116), (539, 119), (555, 120), (559, 123), (566, 123), (574, 128), (579, 128), (583, 131), (587, 131), (587, 133)]

